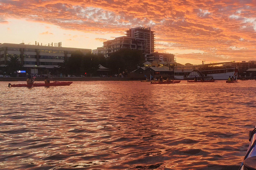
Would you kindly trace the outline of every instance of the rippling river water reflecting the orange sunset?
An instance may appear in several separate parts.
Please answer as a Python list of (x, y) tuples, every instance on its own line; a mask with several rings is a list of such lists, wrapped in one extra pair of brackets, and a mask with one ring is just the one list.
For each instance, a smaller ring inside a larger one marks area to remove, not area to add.
[(6, 170), (238, 169), (256, 125), (255, 80), (7, 85), (0, 82)]

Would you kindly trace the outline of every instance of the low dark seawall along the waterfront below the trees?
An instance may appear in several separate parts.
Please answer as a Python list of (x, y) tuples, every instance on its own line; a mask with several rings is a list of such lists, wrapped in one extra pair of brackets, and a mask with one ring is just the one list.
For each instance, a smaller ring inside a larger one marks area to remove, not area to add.
[[(1, 77), (0, 81), (26, 81), (26, 77)], [(54, 77), (53, 81), (132, 81), (130, 77)], [(35, 81), (44, 81), (37, 77)]]

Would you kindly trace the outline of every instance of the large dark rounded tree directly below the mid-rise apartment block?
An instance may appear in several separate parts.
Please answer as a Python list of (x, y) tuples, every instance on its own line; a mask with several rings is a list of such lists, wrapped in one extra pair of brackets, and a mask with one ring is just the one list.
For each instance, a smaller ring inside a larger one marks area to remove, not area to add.
[(143, 62), (145, 58), (141, 50), (122, 48), (110, 54), (107, 66), (116, 73), (122, 73), (125, 70), (130, 72), (137, 69)]

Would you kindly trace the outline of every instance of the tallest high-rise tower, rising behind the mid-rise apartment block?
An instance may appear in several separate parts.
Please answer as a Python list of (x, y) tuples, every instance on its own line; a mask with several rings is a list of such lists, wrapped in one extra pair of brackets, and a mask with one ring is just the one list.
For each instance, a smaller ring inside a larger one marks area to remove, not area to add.
[(146, 53), (149, 54), (149, 53), (155, 52), (155, 32), (151, 31), (150, 27), (131, 28), (126, 31), (126, 36), (139, 38), (139, 39), (146, 39), (147, 40)]

